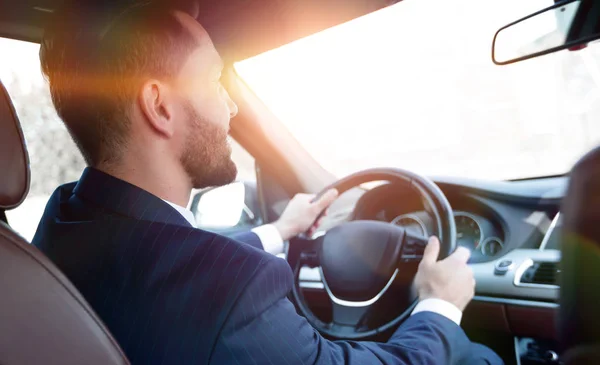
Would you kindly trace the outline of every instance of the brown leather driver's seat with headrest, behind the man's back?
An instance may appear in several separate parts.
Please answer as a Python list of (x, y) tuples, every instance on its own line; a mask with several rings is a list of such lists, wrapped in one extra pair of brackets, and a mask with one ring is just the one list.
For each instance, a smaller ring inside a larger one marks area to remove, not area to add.
[[(0, 83), (0, 212), (29, 190), (29, 158)], [(0, 364), (128, 364), (114, 338), (67, 278), (0, 222)]]

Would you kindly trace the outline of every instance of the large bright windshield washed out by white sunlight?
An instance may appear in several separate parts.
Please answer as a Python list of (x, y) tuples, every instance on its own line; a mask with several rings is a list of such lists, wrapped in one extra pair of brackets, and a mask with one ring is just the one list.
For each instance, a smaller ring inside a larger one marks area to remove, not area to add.
[(517, 179), (600, 143), (600, 46), (509, 66), (501, 26), (550, 0), (405, 0), (236, 64), (326, 169)]

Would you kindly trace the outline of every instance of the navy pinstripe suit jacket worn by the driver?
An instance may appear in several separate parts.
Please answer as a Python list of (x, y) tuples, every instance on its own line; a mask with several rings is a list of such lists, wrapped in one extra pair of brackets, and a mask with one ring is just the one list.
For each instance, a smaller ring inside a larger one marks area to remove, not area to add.
[(52, 195), (33, 244), (133, 364), (446, 364), (469, 351), (459, 326), (426, 312), (387, 343), (328, 341), (286, 298), (289, 265), (254, 234), (194, 229), (161, 199), (91, 168)]

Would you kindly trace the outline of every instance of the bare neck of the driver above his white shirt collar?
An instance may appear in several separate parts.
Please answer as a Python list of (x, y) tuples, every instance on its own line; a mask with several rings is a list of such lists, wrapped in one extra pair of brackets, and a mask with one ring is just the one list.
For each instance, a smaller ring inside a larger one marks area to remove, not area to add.
[[(159, 165), (153, 164), (152, 166)], [(160, 171), (154, 171), (151, 166), (137, 168), (128, 167), (125, 164), (110, 167), (94, 166), (94, 168), (179, 206), (187, 206), (190, 200), (192, 186), (189, 178), (186, 175), (180, 177), (180, 174), (167, 168), (159, 167)]]

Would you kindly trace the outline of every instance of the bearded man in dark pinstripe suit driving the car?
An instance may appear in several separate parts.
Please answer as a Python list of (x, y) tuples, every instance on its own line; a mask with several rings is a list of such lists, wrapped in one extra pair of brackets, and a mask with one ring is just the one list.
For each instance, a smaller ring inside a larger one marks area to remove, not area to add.
[(33, 244), (132, 363), (502, 363), (459, 325), (474, 292), (469, 252), (438, 262), (436, 239), (415, 279), (420, 302), (387, 343), (321, 337), (287, 299), (292, 272), (271, 253), (310, 228), (336, 192), (316, 203), (295, 197), (262, 228), (269, 234), (235, 240), (197, 229), (183, 208), (192, 188), (236, 175), (226, 136), (237, 107), (219, 82), (218, 53), (180, 10), (131, 6), (93, 32), (84, 10), (57, 12), (40, 57), (90, 167), (52, 195)]

